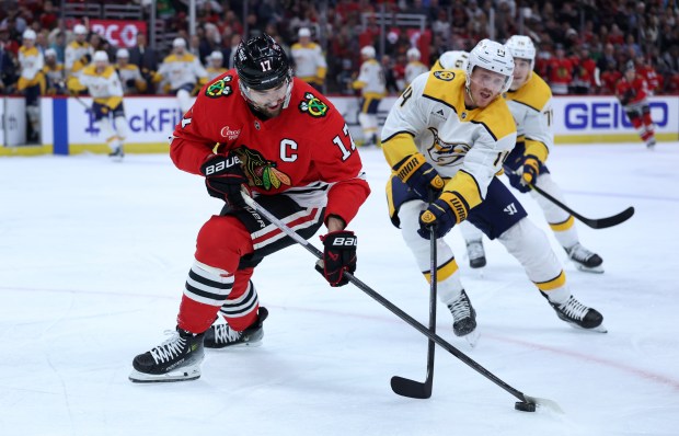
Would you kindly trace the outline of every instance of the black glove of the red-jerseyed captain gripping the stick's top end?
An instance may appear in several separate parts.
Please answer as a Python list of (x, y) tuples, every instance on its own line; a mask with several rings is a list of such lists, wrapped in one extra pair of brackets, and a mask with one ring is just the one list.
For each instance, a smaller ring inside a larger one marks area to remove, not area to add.
[(245, 202), (241, 195), (243, 184), (248, 177), (241, 168), (241, 160), (231, 152), (229, 156), (214, 156), (202, 167), (205, 175), (205, 186), (212, 197), (223, 199), (232, 208), (244, 208)]

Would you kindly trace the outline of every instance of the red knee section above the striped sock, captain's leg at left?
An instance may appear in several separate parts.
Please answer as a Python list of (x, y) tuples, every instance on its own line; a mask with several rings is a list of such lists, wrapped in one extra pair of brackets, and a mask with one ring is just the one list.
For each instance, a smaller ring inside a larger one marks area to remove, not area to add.
[(234, 273), (241, 256), (252, 251), (250, 232), (233, 216), (214, 216), (198, 231), (196, 260), (204, 264)]

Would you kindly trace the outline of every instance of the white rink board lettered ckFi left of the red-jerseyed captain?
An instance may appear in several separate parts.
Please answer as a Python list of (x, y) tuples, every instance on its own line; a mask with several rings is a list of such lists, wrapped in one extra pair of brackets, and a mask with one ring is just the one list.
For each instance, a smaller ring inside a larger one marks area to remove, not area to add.
[[(94, 116), (88, 111), (92, 99), (69, 99), (68, 138), (71, 145), (104, 142)], [(138, 144), (169, 142), (174, 126), (182, 119), (182, 111), (172, 96), (125, 97), (127, 141)]]

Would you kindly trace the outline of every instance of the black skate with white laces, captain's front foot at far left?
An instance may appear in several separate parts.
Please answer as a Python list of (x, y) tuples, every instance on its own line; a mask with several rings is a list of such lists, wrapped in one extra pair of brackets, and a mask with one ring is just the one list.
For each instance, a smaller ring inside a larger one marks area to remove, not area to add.
[(135, 357), (129, 379), (137, 383), (195, 380), (200, 377), (204, 334), (176, 328), (171, 336)]

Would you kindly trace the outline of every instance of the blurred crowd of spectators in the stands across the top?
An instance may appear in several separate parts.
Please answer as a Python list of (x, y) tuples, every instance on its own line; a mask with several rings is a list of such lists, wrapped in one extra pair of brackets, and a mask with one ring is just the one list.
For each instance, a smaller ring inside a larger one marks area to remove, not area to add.
[[(0, 10), (0, 92), (13, 93), (24, 31), (35, 31), (36, 47), (42, 53), (53, 48), (57, 61), (64, 62), (74, 23), (61, 19), (57, 1), (5, 3), (8, 7)], [(148, 18), (150, 1), (137, 3)], [(360, 67), (360, 48), (366, 45), (378, 50), (389, 92), (396, 94), (402, 91), (406, 54), (414, 46), (423, 54), (421, 61), (431, 66), (447, 50), (469, 50), (484, 37), (504, 42), (514, 34), (533, 39), (538, 47), (536, 70), (555, 94), (612, 94), (629, 60), (646, 71), (656, 94), (679, 93), (677, 0), (197, 0), (193, 36), (188, 35), (187, 3), (156, 0), (157, 18), (166, 32), (185, 38), (187, 50), (206, 66), (218, 51), (223, 67), (231, 68), (242, 38), (262, 33), (272, 35), (289, 51), (298, 41), (299, 28), (309, 28), (327, 60), (323, 89), (330, 94), (356, 92), (350, 83)], [(416, 39), (418, 34), (404, 26), (381, 26), (375, 15), (379, 12), (424, 16), (425, 28), (430, 32), (428, 44), (423, 47), (425, 39)], [(93, 33), (88, 39), (94, 50), (107, 51), (115, 62), (118, 47)], [(170, 50), (159, 47), (154, 59), (139, 65), (149, 82)], [(164, 90), (149, 83), (143, 92)]]

